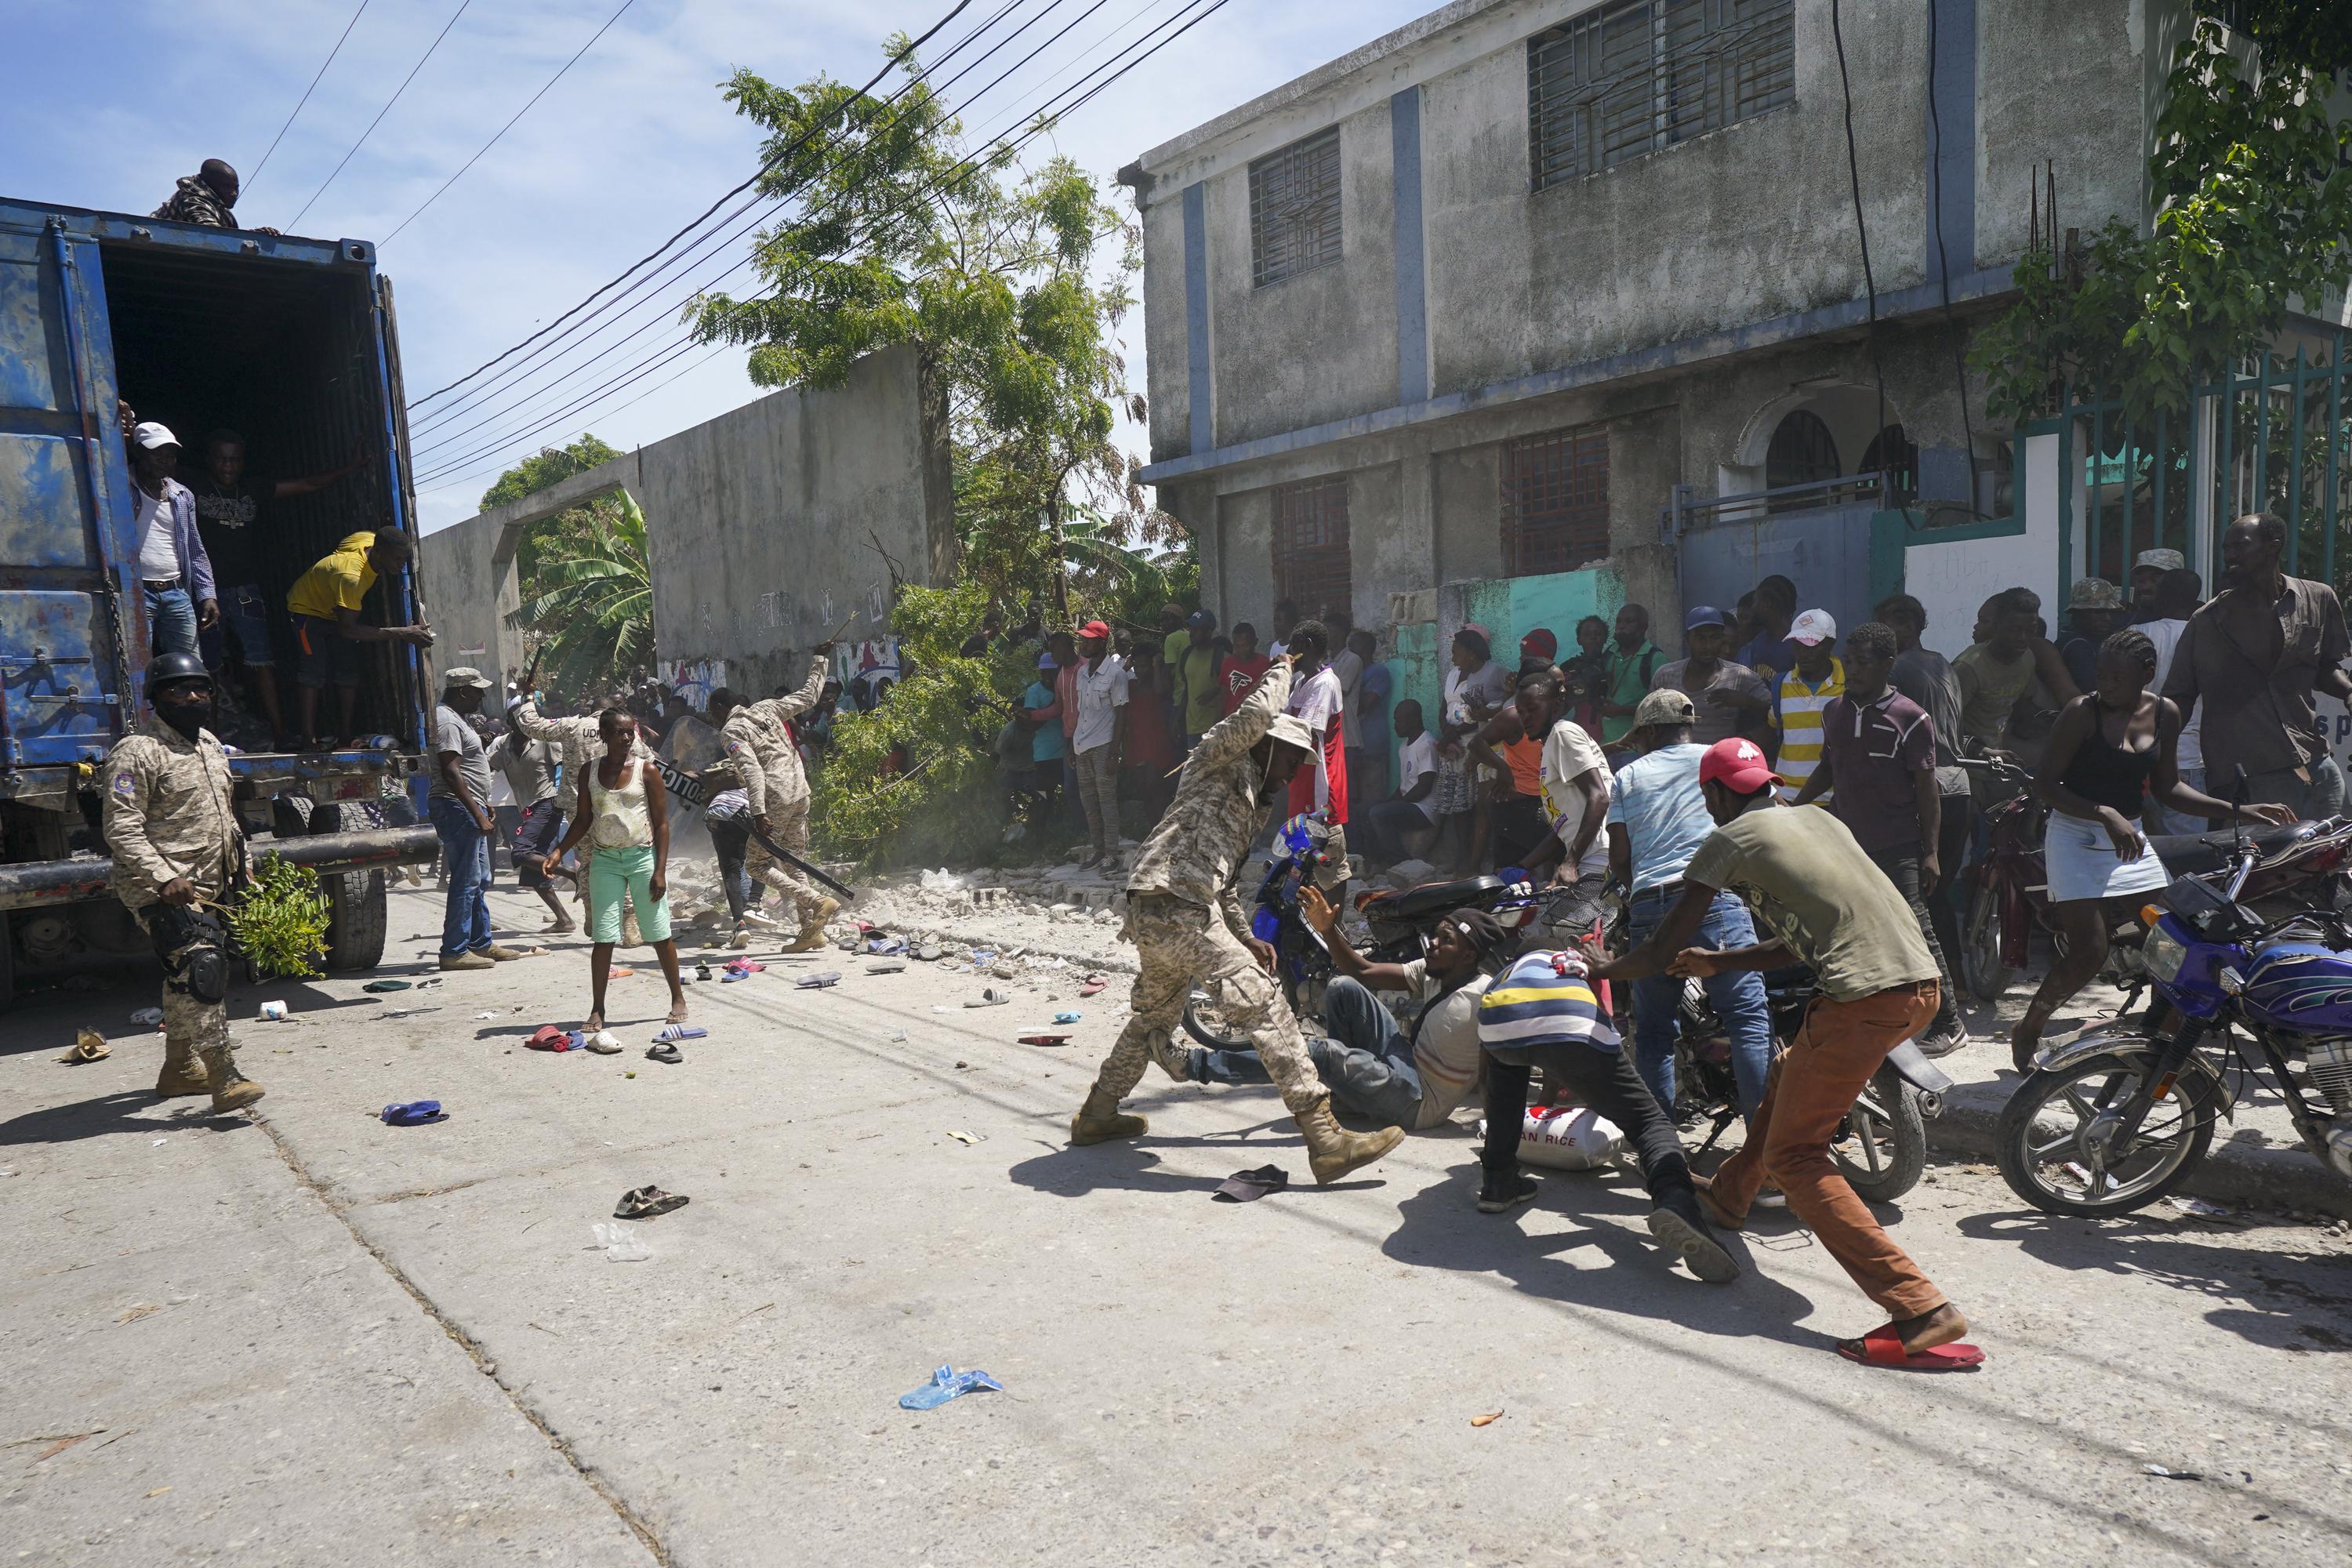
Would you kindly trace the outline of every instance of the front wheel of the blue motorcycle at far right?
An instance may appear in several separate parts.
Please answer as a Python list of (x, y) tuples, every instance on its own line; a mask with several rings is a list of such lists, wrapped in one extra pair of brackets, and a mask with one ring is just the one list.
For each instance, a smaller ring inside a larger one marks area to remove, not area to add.
[(2138, 1088), (2150, 1058), (2100, 1051), (2058, 1072), (2034, 1072), (2002, 1107), (1994, 1147), (2002, 1180), (2042, 1213), (2096, 1220), (2147, 1208), (2213, 1147), (2213, 1105), (2187, 1074), (2157, 1100), (2122, 1161), (2093, 1138), (2107, 1107)]

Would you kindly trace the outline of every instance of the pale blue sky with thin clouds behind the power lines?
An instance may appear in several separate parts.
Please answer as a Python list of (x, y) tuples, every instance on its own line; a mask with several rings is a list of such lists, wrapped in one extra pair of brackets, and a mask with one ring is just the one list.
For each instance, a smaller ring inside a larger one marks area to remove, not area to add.
[[(318, 92), (261, 165), (303, 87), (353, 19), (358, 0), (0, 0), (9, 40), (9, 92), (0, 94), (0, 190), (75, 207), (151, 212), (172, 181), (205, 158), (247, 174), (238, 202), (245, 223), (294, 233), (381, 240), (423, 202), (621, 0), (470, 0), (435, 54), (341, 174), (327, 183), (367, 122), (416, 66), (459, 0), (369, 0)], [(405, 233), (383, 244), (381, 266), (400, 289), (400, 334), (409, 386), (419, 393), (473, 369), (536, 324), (562, 313), (722, 190), (750, 174), (757, 134), (720, 101), (717, 82), (736, 66), (797, 82), (818, 71), (863, 82), (880, 45), (920, 33), (953, 0), (635, 0), (602, 40)], [(995, 132), (1025, 96), (1103, 59), (1181, 0), (1011, 0), (990, 33), (1035, 28), (997, 54), (978, 87), (1061, 26), (1077, 21), (969, 113), (969, 129)], [(1094, 99), (1058, 132), (1061, 150), (1105, 186), (1141, 150), (1277, 87), (1430, 9), (1435, 0), (1232, 0), (1136, 73)], [(943, 33), (957, 38), (1007, 0), (974, 0)], [(322, 188), (299, 226), (292, 216)], [(1124, 193), (1120, 193), (1124, 202)], [(691, 280), (722, 270), (741, 247), (713, 252), (673, 282), (656, 313), (647, 303), (612, 336), (661, 317), (647, 336), (600, 362), (586, 390), (675, 336), (668, 301)], [(1143, 329), (1124, 331), (1134, 386), (1143, 386)], [(597, 353), (612, 339), (583, 348)], [(470, 458), (419, 489), (428, 529), (468, 517), (499, 465), (543, 442), (590, 428), (616, 447), (656, 440), (757, 390), (741, 353), (703, 362), (694, 350), (644, 381), (614, 390), (529, 442)], [(661, 376), (696, 369), (647, 393)], [(529, 390), (522, 381), (515, 390)], [(555, 414), (553, 395), (492, 421), (475, 442), (499, 437), (527, 414)], [(510, 402), (513, 395), (496, 402)], [(635, 400), (635, 402), (630, 402)], [(630, 402), (630, 407), (616, 407)], [(496, 404), (494, 404), (496, 407)], [(482, 409), (489, 414), (492, 409)], [(452, 421), (447, 430), (473, 423)], [(419, 433), (423, 454), (433, 440)], [(1141, 447), (1141, 430), (1124, 430)]]

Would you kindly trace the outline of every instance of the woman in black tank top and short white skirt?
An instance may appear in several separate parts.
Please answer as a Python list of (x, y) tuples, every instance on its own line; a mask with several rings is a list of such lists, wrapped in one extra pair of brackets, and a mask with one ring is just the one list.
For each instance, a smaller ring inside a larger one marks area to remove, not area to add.
[(2147, 632), (2126, 628), (2107, 637), (2098, 649), (2098, 684), (2058, 712), (2042, 755), (2039, 790), (2051, 806), (2042, 865), (2065, 952), (2009, 1032), (2018, 1072), (2032, 1067), (2051, 1013), (2107, 961), (2107, 931), (2171, 882), (2140, 832), (2143, 795), (2187, 816), (2296, 820), (2286, 806), (2230, 806), (2180, 783), (2180, 710), (2147, 689), (2154, 672), (2157, 644)]

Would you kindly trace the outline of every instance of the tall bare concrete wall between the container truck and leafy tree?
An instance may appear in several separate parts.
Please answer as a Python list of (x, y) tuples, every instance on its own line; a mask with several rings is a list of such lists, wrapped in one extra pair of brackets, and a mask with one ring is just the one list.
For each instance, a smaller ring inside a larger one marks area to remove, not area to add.
[(946, 404), (913, 348), (835, 390), (786, 388), (423, 538), (442, 665), (520, 670), (515, 548), (541, 517), (628, 491), (644, 510), (661, 672), (687, 689), (800, 682), (830, 635), (889, 630), (894, 578), (955, 564)]

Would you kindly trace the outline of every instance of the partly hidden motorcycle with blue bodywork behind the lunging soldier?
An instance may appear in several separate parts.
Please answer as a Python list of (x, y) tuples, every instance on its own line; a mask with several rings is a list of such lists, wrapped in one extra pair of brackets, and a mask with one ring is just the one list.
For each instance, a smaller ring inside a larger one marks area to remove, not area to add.
[[(1310, 1023), (1322, 1018), (1322, 997), (1334, 966), (1331, 947), (1298, 912), (1298, 889), (1312, 882), (1329, 860), (1331, 837), (1331, 830), (1312, 816), (1294, 816), (1282, 823), (1249, 917), (1251, 936), (1275, 950), (1275, 978), (1282, 983), (1282, 997), (1298, 1018)], [(1364, 957), (1376, 964), (1409, 964), (1428, 950), (1437, 922), (1465, 907), (1486, 910), (1505, 929), (1519, 929), (1536, 922), (1541, 898), (1526, 882), (1503, 882), (1501, 877), (1430, 882), (1402, 891), (1367, 889), (1355, 898), (1357, 914), (1371, 926)], [(1211, 997), (1200, 990), (1185, 999), (1183, 1030), (1211, 1051), (1244, 1051), (1251, 1044), (1247, 1034), (1225, 1027)]]

